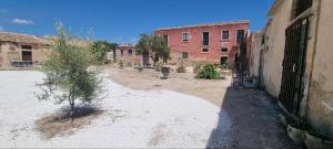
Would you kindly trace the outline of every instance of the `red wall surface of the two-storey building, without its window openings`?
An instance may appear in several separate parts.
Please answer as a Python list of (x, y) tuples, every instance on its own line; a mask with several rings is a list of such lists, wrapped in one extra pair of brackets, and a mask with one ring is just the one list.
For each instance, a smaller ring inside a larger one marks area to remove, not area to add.
[[(214, 26), (193, 26), (181, 29), (157, 30), (154, 34), (168, 35), (169, 47), (171, 49), (171, 57), (174, 61), (180, 58), (182, 52), (189, 53), (190, 60), (204, 60), (214, 63), (220, 63), (221, 56), (228, 56), (229, 61), (234, 60), (234, 54), (238, 52), (236, 30), (245, 30), (248, 33), (249, 23), (224, 24)], [(202, 53), (202, 32), (210, 32), (210, 49), (209, 53)], [(222, 41), (221, 32), (230, 31), (228, 42)], [(190, 32), (191, 39), (189, 42), (183, 42), (182, 33)], [(228, 53), (221, 53), (222, 47), (228, 47)]]

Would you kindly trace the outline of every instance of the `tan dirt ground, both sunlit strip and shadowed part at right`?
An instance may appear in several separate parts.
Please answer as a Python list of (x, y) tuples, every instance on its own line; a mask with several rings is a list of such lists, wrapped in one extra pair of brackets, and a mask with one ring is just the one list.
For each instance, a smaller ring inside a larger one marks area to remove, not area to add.
[[(223, 81), (203, 81), (194, 79), (193, 73), (171, 73), (170, 78), (160, 79), (159, 72), (152, 70), (140, 73), (133, 68), (120, 70), (114, 66), (110, 66), (107, 73), (112, 81), (130, 88), (171, 89), (201, 97), (219, 106), (219, 124), (211, 132), (208, 148), (299, 148), (291, 141), (284, 126), (279, 121), (281, 110), (278, 100), (262, 91), (230, 86), (230, 76)], [(226, 120), (231, 129), (225, 129)]]

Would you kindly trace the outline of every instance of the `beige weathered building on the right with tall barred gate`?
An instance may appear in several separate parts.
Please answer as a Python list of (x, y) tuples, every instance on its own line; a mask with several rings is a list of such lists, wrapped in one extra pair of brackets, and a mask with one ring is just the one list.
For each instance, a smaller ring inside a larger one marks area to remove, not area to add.
[(258, 38), (251, 46), (258, 63), (251, 65), (252, 75), (260, 70), (262, 85), (294, 120), (331, 139), (332, 6), (332, 0), (275, 0), (262, 35), (253, 34)]

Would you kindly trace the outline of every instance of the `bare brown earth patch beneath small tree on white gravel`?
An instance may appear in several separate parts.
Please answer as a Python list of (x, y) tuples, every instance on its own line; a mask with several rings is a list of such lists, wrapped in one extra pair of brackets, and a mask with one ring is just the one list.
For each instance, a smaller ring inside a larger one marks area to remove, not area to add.
[(75, 115), (70, 116), (70, 107), (63, 107), (54, 114), (36, 120), (36, 129), (42, 135), (44, 139), (50, 139), (56, 136), (71, 135), (74, 129), (91, 124), (97, 119), (103, 110), (97, 106), (82, 105), (75, 107)]

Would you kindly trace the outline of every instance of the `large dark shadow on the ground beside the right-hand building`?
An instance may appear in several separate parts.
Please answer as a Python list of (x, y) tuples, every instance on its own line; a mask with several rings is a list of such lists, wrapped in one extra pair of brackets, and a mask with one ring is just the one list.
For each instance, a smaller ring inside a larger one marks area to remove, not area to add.
[[(279, 114), (278, 100), (264, 92), (231, 86), (226, 89), (219, 124), (211, 132), (206, 148), (299, 148), (289, 139)], [(230, 128), (225, 128), (225, 116), (231, 121)]]

